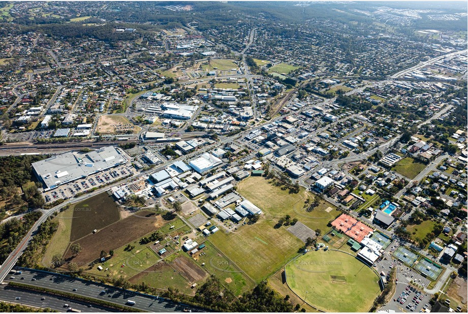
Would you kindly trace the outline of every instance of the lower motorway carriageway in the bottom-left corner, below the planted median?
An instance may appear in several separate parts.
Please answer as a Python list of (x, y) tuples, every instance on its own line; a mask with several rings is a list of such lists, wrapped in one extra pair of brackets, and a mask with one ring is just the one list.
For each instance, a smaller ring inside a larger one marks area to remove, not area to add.
[[(16, 298), (21, 298), (16, 300)], [(41, 300), (45, 298), (44, 300)], [(40, 308), (50, 308), (59, 312), (67, 312), (68, 307), (65, 307), (65, 304), (68, 304), (74, 309), (81, 310), (82, 312), (116, 312), (117, 310), (107, 309), (101, 306), (92, 306), (88, 307), (87, 304), (74, 301), (69, 298), (63, 298), (53, 295), (48, 295), (45, 293), (33, 292), (20, 290), (15, 287), (1, 286), (0, 287), (0, 301), (9, 302), (9, 303), (18, 303), (22, 305), (27, 305), (31, 307), (40, 307)]]

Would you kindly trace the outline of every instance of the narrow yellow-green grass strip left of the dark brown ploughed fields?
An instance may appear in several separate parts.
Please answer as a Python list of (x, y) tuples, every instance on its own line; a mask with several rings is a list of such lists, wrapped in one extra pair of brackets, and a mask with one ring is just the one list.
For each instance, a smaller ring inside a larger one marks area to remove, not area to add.
[(70, 243), (72, 233), (73, 210), (66, 210), (59, 213), (54, 221), (58, 221), (57, 231), (49, 242), (46, 252), (42, 258), (41, 264), (44, 267), (50, 267), (52, 257), (55, 254), (64, 255)]

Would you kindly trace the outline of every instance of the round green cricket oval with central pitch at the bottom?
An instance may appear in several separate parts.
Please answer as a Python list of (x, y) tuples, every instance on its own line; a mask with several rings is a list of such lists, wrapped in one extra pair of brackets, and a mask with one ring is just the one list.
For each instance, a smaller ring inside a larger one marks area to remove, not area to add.
[(286, 280), (302, 299), (330, 312), (366, 312), (380, 293), (379, 276), (372, 269), (334, 250), (300, 256), (286, 266)]

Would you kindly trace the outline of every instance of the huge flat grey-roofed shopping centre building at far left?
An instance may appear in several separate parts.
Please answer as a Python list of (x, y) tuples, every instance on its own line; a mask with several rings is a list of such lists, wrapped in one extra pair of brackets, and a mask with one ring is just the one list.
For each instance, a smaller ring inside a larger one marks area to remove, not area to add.
[(66, 152), (32, 164), (34, 172), (49, 191), (67, 182), (128, 162), (126, 153), (114, 146), (90, 152)]

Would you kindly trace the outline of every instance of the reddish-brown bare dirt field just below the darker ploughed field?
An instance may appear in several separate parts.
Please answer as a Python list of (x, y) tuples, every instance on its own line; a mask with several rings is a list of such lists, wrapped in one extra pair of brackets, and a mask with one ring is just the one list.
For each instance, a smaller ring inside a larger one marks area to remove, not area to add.
[(95, 234), (79, 239), (76, 242), (80, 243), (82, 247), (81, 253), (72, 258), (72, 253), (68, 249), (65, 258), (78, 265), (84, 265), (98, 259), (102, 250), (109, 252), (109, 250), (114, 250), (160, 228), (164, 224), (163, 218), (160, 215), (149, 216), (151, 214), (154, 213), (138, 212), (101, 229)]

